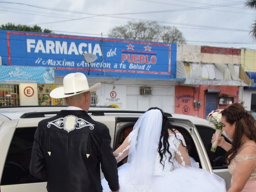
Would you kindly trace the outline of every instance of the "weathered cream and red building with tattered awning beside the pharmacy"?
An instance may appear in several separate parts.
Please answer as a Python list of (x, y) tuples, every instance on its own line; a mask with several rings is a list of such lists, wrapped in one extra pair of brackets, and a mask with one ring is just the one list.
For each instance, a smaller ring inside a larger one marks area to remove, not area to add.
[(241, 50), (178, 45), (174, 112), (206, 118), (214, 109), (242, 101), (250, 79), (241, 66)]

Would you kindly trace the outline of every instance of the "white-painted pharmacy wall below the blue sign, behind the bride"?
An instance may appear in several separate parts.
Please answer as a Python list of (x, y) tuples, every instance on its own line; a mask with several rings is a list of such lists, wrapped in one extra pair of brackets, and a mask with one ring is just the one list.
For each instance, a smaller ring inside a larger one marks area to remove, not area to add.
[[(63, 77), (56, 77), (56, 84), (62, 84)], [(98, 106), (115, 104), (120, 109), (147, 110), (159, 107), (164, 112), (174, 112), (174, 89), (176, 81), (88, 78), (89, 85), (101, 82), (96, 91)], [(150, 87), (152, 95), (140, 95), (140, 87)], [(114, 98), (112, 98), (114, 97)]]

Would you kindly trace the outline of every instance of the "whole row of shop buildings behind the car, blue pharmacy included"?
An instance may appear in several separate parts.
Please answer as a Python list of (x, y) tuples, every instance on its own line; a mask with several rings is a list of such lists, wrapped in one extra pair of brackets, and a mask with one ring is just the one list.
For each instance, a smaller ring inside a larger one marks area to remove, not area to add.
[[(6, 30), (0, 42), (0, 106), (64, 105), (49, 94), (71, 72), (86, 74), (90, 85), (102, 82), (91, 93), (96, 106), (158, 106), (205, 118), (254, 97), (243, 90), (251, 56), (241, 49)], [(97, 59), (86, 62), (86, 53)]]

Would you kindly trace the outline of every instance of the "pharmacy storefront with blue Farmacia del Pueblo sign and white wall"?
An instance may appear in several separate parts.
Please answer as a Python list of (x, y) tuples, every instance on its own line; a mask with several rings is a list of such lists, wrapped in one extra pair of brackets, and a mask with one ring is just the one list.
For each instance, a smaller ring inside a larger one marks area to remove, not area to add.
[[(16, 31), (0, 31), (0, 42), (2, 66), (54, 70), (53, 83), (48, 82), (50, 76), (44, 84), (37, 82), (41, 104), (63, 104), (48, 100), (48, 93), (62, 86), (66, 74), (82, 72), (89, 84), (102, 82), (100, 90), (92, 93), (93, 105), (174, 111), (175, 84), (182, 80), (176, 79), (176, 44)], [(86, 53), (97, 59), (87, 63)]]

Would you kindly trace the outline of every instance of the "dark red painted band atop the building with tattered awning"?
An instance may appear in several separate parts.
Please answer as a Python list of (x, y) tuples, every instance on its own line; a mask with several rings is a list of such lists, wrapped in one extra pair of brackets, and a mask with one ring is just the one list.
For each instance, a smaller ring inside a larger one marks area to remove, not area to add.
[(223, 54), (223, 55), (241, 55), (241, 50), (234, 49), (234, 48), (201, 46), (201, 53)]

